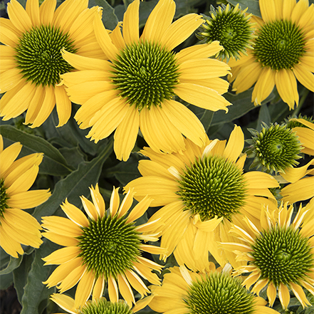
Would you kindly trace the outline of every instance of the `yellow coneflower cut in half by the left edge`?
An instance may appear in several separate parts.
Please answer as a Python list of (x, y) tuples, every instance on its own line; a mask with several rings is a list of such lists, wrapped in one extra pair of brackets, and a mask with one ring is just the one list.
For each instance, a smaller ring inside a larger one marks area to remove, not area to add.
[(41, 226), (23, 209), (46, 202), (51, 193), (37, 189), (28, 191), (35, 181), (43, 154), (27, 155), (16, 160), (21, 152), (19, 142), (6, 147), (0, 135), (0, 246), (9, 255), (23, 254), (21, 244), (39, 248)]

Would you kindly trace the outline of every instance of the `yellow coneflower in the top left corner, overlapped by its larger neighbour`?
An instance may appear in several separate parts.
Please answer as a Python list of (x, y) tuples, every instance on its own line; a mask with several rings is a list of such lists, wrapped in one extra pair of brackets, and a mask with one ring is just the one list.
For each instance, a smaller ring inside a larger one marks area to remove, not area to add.
[(86, 0), (66, 0), (56, 9), (56, 0), (26, 1), (26, 10), (16, 0), (8, 4), (8, 19), (0, 19), (1, 83), (3, 120), (26, 112), (25, 124), (38, 127), (56, 105), (58, 126), (64, 125), (71, 103), (60, 74), (73, 70), (61, 56), (61, 48), (80, 56), (99, 58), (103, 52), (93, 33), (97, 6)]

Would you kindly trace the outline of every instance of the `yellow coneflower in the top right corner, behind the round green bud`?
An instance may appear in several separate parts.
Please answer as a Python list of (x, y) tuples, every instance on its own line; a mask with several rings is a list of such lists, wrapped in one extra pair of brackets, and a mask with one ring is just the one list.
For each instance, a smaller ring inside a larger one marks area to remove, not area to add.
[(233, 88), (241, 93), (255, 83), (252, 102), (260, 105), (273, 90), (293, 108), (298, 105), (297, 80), (314, 91), (314, 5), (308, 0), (261, 0), (262, 19), (256, 22), (254, 50), (239, 61), (230, 61)]

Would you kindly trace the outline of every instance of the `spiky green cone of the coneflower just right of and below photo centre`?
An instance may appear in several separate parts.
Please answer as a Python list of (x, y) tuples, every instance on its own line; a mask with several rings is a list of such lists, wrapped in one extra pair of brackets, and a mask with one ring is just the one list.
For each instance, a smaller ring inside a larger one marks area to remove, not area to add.
[(214, 216), (231, 220), (246, 198), (246, 182), (241, 169), (221, 156), (208, 156), (187, 166), (179, 181), (186, 208), (202, 221)]

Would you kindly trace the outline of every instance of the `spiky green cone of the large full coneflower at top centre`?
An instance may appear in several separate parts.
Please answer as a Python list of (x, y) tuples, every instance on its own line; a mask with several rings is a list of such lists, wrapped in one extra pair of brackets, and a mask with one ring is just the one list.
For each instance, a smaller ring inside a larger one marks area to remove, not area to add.
[(174, 96), (179, 72), (174, 53), (157, 43), (127, 46), (113, 63), (112, 83), (121, 98), (138, 110), (161, 106)]

